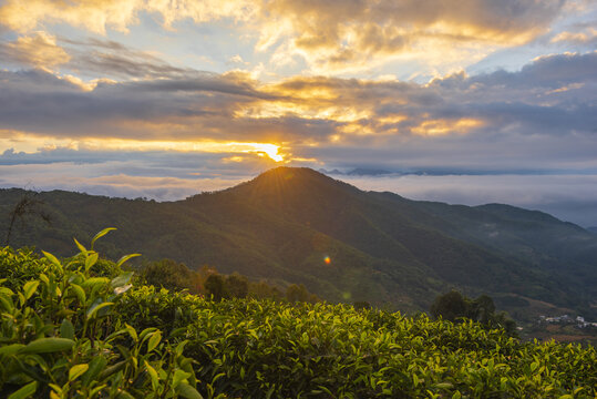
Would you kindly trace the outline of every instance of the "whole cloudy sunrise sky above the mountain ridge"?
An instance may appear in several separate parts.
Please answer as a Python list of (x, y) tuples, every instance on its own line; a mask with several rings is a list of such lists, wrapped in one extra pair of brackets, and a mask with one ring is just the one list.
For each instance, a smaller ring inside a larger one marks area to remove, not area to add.
[(281, 165), (597, 226), (597, 0), (0, 0), (0, 187)]

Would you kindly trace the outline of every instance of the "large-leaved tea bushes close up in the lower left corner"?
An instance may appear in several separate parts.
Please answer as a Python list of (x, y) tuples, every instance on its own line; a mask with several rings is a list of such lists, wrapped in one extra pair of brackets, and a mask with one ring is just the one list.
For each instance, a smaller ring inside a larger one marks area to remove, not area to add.
[(76, 245), (64, 262), (0, 248), (0, 396), (200, 398), (186, 341), (171, 344), (153, 327), (137, 332), (114, 313), (132, 273), (106, 277), (122, 262), (102, 267)]

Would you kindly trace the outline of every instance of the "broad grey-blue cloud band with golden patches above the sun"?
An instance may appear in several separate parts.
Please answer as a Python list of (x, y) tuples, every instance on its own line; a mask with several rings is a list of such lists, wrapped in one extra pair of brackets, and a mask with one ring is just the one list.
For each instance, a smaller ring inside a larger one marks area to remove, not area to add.
[(175, 71), (90, 90), (40, 70), (0, 71), (0, 150), (25, 151), (11, 137), (40, 147), (54, 141), (144, 151), (269, 143), (286, 161), (316, 160), (318, 167), (586, 171), (597, 168), (596, 89), (597, 52), (429, 84), (326, 76), (264, 83), (243, 72)]

